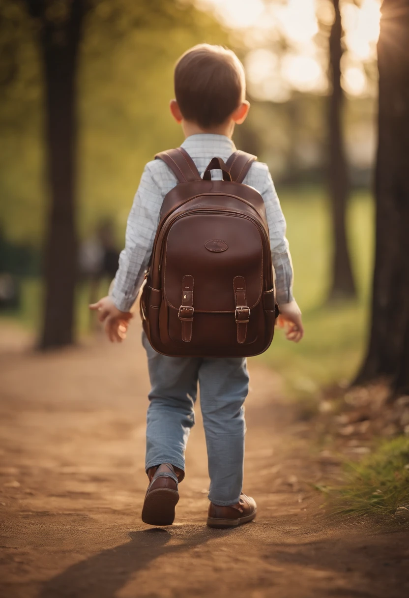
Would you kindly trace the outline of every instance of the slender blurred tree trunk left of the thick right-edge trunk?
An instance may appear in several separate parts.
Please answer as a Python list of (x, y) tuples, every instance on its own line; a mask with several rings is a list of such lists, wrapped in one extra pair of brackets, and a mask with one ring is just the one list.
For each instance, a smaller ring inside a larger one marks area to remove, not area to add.
[(339, 0), (332, 0), (335, 20), (329, 35), (329, 74), (332, 93), (329, 96), (329, 194), (332, 212), (332, 283), (329, 299), (355, 297), (352, 268), (346, 239), (346, 205), (349, 194), (348, 169), (344, 153), (341, 87), (342, 25)]

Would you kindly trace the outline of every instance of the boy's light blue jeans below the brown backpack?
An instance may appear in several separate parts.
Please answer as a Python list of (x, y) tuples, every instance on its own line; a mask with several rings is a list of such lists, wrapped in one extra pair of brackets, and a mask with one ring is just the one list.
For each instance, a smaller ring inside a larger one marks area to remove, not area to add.
[(160, 355), (142, 334), (148, 355), (149, 407), (146, 417), (146, 471), (172, 463), (185, 471), (185, 449), (194, 426), (197, 383), (205, 426), (209, 500), (239, 501), (243, 487), (245, 417), (249, 376), (243, 358), (194, 358)]

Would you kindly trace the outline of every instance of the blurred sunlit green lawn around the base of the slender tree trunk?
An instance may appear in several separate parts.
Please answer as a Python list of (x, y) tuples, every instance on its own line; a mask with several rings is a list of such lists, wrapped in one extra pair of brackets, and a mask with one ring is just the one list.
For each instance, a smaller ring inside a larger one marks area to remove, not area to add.
[(315, 188), (281, 194), (294, 263), (294, 296), (303, 312), (299, 344), (276, 331), (271, 348), (258, 359), (283, 374), (290, 391), (315, 393), (319, 386), (350, 380), (365, 347), (373, 255), (373, 202), (352, 196), (347, 214), (349, 247), (358, 299), (328, 305), (331, 280), (331, 223), (325, 194)]

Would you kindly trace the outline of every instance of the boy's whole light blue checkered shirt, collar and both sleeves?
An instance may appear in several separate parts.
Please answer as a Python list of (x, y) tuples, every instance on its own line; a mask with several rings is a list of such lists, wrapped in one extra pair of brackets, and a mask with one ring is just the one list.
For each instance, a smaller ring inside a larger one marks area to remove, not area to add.
[[(236, 151), (231, 139), (209, 133), (191, 135), (185, 139), (182, 147), (193, 158), (201, 175), (213, 157), (226, 161)], [(220, 171), (213, 170), (212, 173), (213, 179), (221, 179)], [(285, 237), (285, 218), (267, 164), (254, 162), (243, 182), (257, 189), (264, 199), (276, 276), (277, 303), (289, 303), (292, 301), (291, 255)], [(153, 160), (146, 164), (130, 210), (125, 249), (120, 255), (111, 292), (115, 306), (122, 312), (129, 311), (144, 280), (163, 198), (176, 184), (175, 175), (163, 160)]]

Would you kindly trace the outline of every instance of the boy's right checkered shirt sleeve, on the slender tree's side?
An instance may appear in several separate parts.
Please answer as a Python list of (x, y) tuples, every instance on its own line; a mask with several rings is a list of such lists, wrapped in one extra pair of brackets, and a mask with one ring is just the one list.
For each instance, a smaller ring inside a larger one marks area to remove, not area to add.
[(280, 201), (267, 170), (267, 179), (261, 192), (265, 203), (268, 230), (270, 231), (271, 256), (276, 274), (276, 300), (277, 303), (289, 303), (292, 296), (293, 270), (288, 240), (286, 239), (286, 222), (280, 206)]

